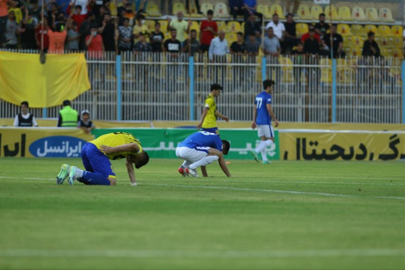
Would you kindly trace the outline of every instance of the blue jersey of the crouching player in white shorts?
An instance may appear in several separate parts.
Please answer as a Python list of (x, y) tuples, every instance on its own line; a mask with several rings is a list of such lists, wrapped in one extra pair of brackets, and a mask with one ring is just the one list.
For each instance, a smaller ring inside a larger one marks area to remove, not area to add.
[(205, 152), (208, 152), (208, 148), (215, 148), (222, 152), (222, 141), (215, 133), (199, 131), (180, 142), (178, 147), (188, 147)]

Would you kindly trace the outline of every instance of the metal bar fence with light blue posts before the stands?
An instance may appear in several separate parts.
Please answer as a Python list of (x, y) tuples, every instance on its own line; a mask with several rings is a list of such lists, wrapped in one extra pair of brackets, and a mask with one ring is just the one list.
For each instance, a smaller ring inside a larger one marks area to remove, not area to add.
[[(21, 51), (20, 51), (21, 52)], [(32, 51), (26, 52), (32, 53)], [(125, 52), (86, 58), (91, 90), (73, 101), (93, 119), (183, 121), (199, 119), (210, 86), (223, 92), (218, 110), (235, 121), (251, 121), (263, 79), (276, 82), (273, 108), (280, 121), (401, 123), (402, 61), (398, 58), (328, 58)], [(118, 75), (117, 75), (118, 74)], [(31, 109), (56, 118), (60, 107)], [(0, 100), (0, 118), (17, 105)]]

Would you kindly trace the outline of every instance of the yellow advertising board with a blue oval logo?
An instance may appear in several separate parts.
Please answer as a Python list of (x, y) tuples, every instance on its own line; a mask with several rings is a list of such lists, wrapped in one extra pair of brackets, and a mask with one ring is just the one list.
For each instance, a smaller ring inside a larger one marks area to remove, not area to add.
[(0, 157), (77, 158), (93, 138), (76, 128), (0, 128)]

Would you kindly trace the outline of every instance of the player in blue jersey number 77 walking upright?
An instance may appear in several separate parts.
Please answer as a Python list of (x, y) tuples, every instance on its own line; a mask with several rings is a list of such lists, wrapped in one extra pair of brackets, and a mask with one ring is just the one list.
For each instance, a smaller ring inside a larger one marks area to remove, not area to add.
[(258, 153), (261, 153), (263, 164), (270, 164), (267, 160), (266, 148), (274, 143), (274, 130), (271, 126), (271, 119), (274, 121), (274, 126), (278, 126), (278, 121), (275, 118), (273, 109), (271, 108), (271, 94), (274, 90), (274, 84), (275, 83), (272, 80), (263, 81), (264, 91), (255, 98), (252, 129), (257, 127), (257, 135), (260, 137), (261, 141), (255, 151), (252, 151), (251, 153), (257, 162), (259, 162), (257, 155)]

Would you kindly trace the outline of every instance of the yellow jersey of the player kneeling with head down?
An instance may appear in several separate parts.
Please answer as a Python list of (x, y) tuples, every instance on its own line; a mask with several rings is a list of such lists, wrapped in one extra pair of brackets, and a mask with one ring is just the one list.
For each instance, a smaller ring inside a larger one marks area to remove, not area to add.
[(136, 156), (142, 152), (142, 147), (141, 147), (141, 143), (139, 142), (139, 140), (137, 138), (135, 138), (134, 135), (132, 135), (130, 133), (126, 133), (126, 132), (114, 132), (114, 133), (104, 134), (90, 142), (93, 143), (94, 145), (96, 145), (100, 151), (101, 151), (101, 148), (100, 148), (101, 145), (106, 145), (106, 146), (110, 146), (110, 147), (115, 147), (115, 146), (123, 145), (126, 143), (136, 143), (139, 145), (139, 151), (137, 153), (130, 152), (130, 151), (121, 151), (121, 152), (109, 153), (108, 155), (104, 154), (110, 160), (125, 159), (129, 155)]

